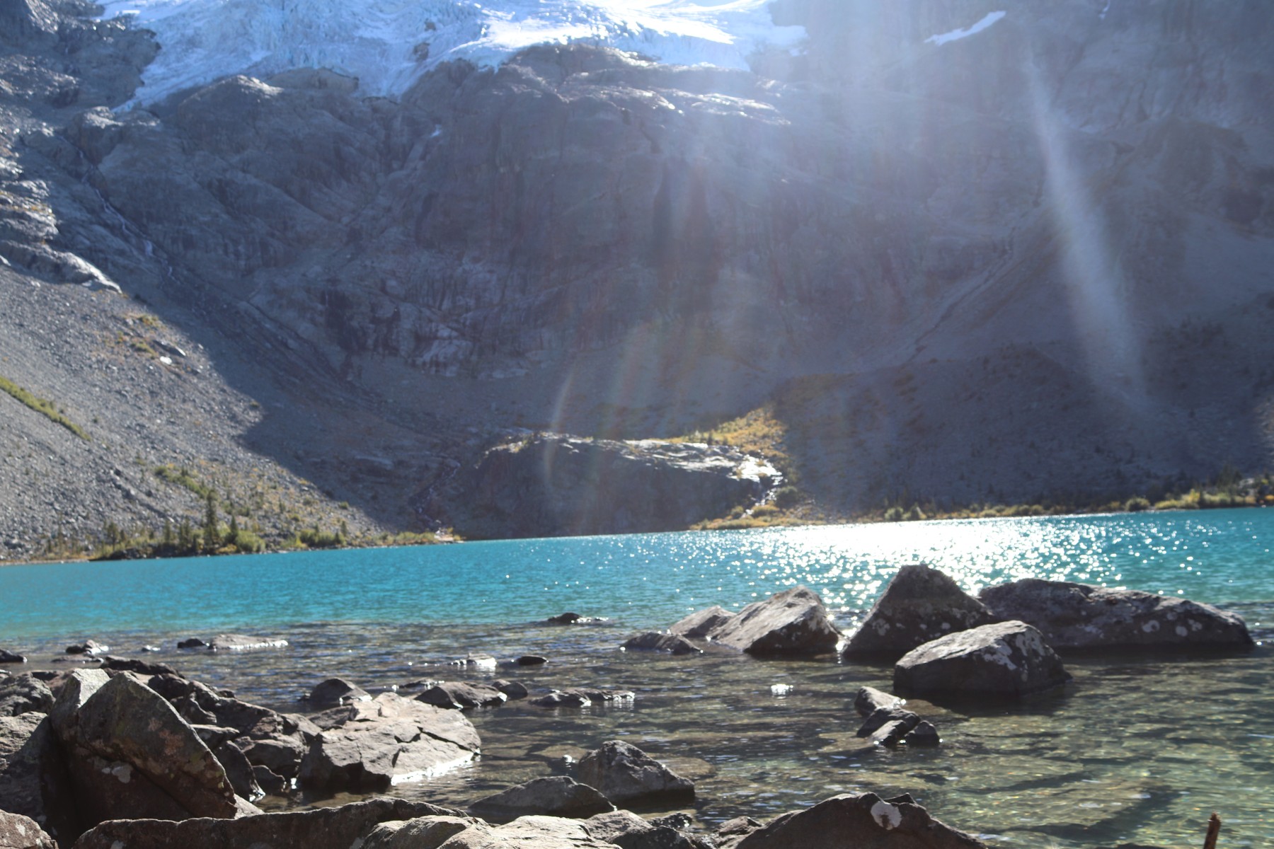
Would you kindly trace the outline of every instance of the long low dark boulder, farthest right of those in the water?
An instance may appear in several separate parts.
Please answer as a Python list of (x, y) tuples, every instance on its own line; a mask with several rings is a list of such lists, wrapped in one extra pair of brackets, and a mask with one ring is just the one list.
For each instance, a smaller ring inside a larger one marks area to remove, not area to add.
[(1057, 649), (1252, 645), (1241, 617), (1186, 598), (1037, 578), (987, 587), (980, 596), (998, 617), (1033, 625)]

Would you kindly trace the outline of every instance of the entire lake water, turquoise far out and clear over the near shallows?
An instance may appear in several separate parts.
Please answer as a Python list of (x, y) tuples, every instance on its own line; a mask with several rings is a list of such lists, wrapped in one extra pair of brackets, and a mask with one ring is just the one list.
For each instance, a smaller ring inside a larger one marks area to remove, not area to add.
[[(689, 811), (705, 827), (840, 792), (910, 792), (998, 846), (1198, 846), (1215, 810), (1223, 845), (1256, 848), (1274, 845), (1271, 540), (1274, 512), (1227, 510), (10, 566), (0, 569), (0, 647), (46, 662), (85, 636), (120, 654), (157, 644), (149, 657), (288, 710), (334, 675), (371, 690), (505, 676), (533, 690), (637, 692), (622, 709), (513, 703), (473, 714), (479, 762), (394, 790), (456, 806), (564, 773), (564, 755), (623, 737), (696, 779)], [(912, 701), (943, 746), (892, 752), (861, 748), (850, 706), (861, 685), (889, 687), (888, 666), (615, 648), (691, 608), (738, 607), (792, 583), (823, 593), (850, 628), (897, 565), (915, 560), (971, 591), (1023, 575), (1181, 591), (1236, 610), (1266, 645), (1236, 657), (1069, 658), (1073, 684), (1012, 706)], [(534, 624), (563, 610), (613, 621)], [(290, 645), (238, 657), (175, 648), (222, 630)], [(552, 662), (494, 673), (446, 666), (469, 653)], [(772, 684), (792, 691), (777, 698)]]

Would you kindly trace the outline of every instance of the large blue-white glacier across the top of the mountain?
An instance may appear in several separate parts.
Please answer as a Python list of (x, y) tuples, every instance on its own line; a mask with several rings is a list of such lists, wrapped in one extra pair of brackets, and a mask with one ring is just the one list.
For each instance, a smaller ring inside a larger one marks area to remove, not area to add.
[(493, 66), (531, 45), (571, 41), (748, 67), (759, 50), (805, 39), (803, 27), (775, 25), (769, 1), (104, 0), (103, 18), (154, 31), (159, 56), (136, 97), (149, 103), (229, 74), (293, 67), (330, 67), (357, 76), (364, 94), (395, 95), (445, 61)]

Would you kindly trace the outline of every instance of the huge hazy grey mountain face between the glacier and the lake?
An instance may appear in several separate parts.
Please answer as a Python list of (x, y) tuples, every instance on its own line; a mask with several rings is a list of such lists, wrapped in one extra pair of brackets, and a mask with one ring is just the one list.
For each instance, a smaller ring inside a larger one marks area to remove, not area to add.
[[(833, 510), (1269, 463), (1266, 4), (772, 10), (809, 43), (752, 73), (555, 45), (397, 99), (297, 69), (112, 112), (163, 45), (4, 0), (0, 375), (124, 415), (111, 452), (138, 468), (197, 462), (213, 420), (218, 468), (276, 470), (369, 528), (464, 514), (480, 476), (455, 470), (508, 428), (669, 437), (763, 405)], [(124, 407), (103, 340), (155, 368), (130, 342), (154, 333), (115, 331), (135, 313), (204, 359)], [(71, 350), (34, 355), (52, 327)], [(0, 472), (15, 536), (47, 532), (32, 493), (110, 495), (73, 434), (0, 421), (39, 470)]]

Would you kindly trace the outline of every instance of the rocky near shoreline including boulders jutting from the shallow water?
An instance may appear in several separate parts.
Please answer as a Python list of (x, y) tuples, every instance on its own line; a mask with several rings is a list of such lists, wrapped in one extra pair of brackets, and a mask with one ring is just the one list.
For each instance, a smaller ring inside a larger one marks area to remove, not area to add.
[[(1010, 607), (1018, 619), (1004, 621)], [(963, 616), (957, 615), (961, 611)], [(982, 619), (991, 621), (980, 624)], [(1064, 628), (1077, 622), (1078, 630)], [(545, 622), (568, 629), (590, 624), (596, 621), (575, 615)], [(934, 634), (938, 639), (927, 639)], [(1075, 639), (1075, 634), (1085, 638)], [(689, 656), (676, 663), (722, 652), (787, 663), (792, 661), (784, 658), (852, 656), (868, 650), (864, 640), (870, 638), (870, 653), (897, 659), (896, 690), (922, 692), (930, 703), (1012, 700), (1064, 684), (1069, 675), (1050, 643), (1068, 657), (1113, 647), (1232, 653), (1251, 645), (1242, 620), (1206, 605), (1060, 582), (1015, 582), (971, 598), (922, 565), (901, 569), (848, 639), (836, 630), (822, 601), (800, 587), (734, 615), (720, 608), (701, 611), (660, 635), (680, 642), (650, 647), (629, 640), (626, 650)], [(891, 638), (887, 645), (884, 636)], [(189, 652), (208, 653), (282, 648), (276, 639), (242, 635), (186, 645)], [(372, 799), (324, 813), (262, 813), (256, 802), (287, 806), (301, 801), (298, 793), (312, 803), (334, 793), (394, 792), (462, 768), (483, 754), (469, 717), (487, 705), (529, 699), (544, 710), (571, 715), (594, 703), (631, 700), (634, 694), (576, 686), (538, 695), (534, 687), (501, 677), (485, 686), (418, 681), (373, 696), (349, 681), (327, 680), (308, 694), (303, 713), (288, 714), (186, 678), (168, 664), (110, 656), (108, 647), (92, 642), (70, 645), (68, 652), (66, 658), (80, 661), (70, 671), (0, 676), (0, 810), (31, 817), (64, 849), (111, 846), (124, 836), (125, 846), (306, 843), (341, 849), (432, 848), (448, 841), (454, 841), (450, 849), (513, 843), (733, 849), (846, 840), (882, 848), (984, 845), (931, 820), (910, 797), (882, 798), (879, 793), (842, 793), (768, 824), (731, 820), (711, 831), (688, 829), (691, 821), (684, 817), (642, 820), (615, 806), (650, 811), (643, 806), (652, 799), (692, 799), (694, 782), (623, 740), (606, 741), (568, 762), (567, 775), (473, 798), (468, 811)], [(10, 654), (5, 668), (18, 672), (22, 661)], [(534, 670), (543, 662), (539, 657), (507, 662), (469, 657), (457, 667), (516, 677), (516, 670)], [(941, 728), (907, 710), (892, 694), (861, 687), (854, 708), (862, 720), (856, 737), (864, 750), (941, 745)], [(115, 822), (101, 825), (107, 821)], [(6, 839), (19, 834), (13, 825), (17, 820), (6, 822), (10, 831), (0, 834)], [(828, 824), (840, 824), (845, 831), (829, 830)], [(41, 832), (23, 827), (28, 829), (25, 843), (0, 845), (52, 845), (39, 843)]]

